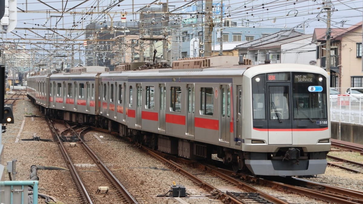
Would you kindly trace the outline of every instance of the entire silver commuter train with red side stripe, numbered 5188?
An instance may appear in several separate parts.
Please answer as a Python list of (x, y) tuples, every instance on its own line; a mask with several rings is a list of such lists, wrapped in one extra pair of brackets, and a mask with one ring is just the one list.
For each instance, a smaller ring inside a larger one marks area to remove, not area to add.
[[(255, 175), (324, 174), (329, 75), (299, 64), (238, 65), (238, 57), (44, 70), (28, 97), (46, 114), (131, 137), (189, 159), (217, 156)], [(137, 65), (138, 67), (134, 67)]]

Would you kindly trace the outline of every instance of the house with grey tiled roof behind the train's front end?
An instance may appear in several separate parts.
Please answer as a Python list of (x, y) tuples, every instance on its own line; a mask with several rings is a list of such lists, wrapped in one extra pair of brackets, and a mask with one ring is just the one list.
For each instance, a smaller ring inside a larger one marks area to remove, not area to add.
[[(244, 58), (251, 60), (252, 64), (264, 64), (266, 53), (270, 53), (270, 50), (268, 50), (267, 48), (262, 48), (264, 45), (301, 35), (303, 35), (303, 33), (298, 32), (294, 29), (281, 30), (279, 32), (272, 33), (256, 40), (241, 44), (237, 46), (236, 49), (238, 49), (239, 55), (243, 55)], [(259, 49), (260, 47), (261, 50)], [(271, 63), (280, 63), (279, 57), (280, 54), (278, 54), (278, 52), (274, 52), (274, 54), (270, 56)]]

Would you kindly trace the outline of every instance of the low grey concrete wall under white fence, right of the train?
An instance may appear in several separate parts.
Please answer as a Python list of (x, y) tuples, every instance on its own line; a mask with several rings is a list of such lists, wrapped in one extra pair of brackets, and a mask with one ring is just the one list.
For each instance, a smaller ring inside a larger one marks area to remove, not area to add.
[[(340, 123), (340, 140), (363, 144), (363, 126)], [(331, 122), (331, 138), (339, 139), (339, 123)]]

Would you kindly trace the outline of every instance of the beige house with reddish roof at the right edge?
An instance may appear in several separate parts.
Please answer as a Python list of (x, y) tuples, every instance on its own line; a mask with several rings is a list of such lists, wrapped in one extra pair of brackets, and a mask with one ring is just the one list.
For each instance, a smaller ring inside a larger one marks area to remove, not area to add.
[[(326, 69), (326, 28), (315, 28), (312, 42), (317, 44), (317, 65)], [(330, 86), (362, 87), (362, 22), (349, 28), (331, 28)], [(344, 70), (344, 71), (343, 71)]]

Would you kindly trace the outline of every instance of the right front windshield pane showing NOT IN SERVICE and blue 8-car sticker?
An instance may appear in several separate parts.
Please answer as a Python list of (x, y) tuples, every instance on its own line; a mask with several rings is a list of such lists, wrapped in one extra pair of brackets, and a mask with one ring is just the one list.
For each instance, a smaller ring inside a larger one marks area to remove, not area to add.
[(327, 119), (326, 80), (321, 74), (294, 72), (292, 107), (294, 119)]

